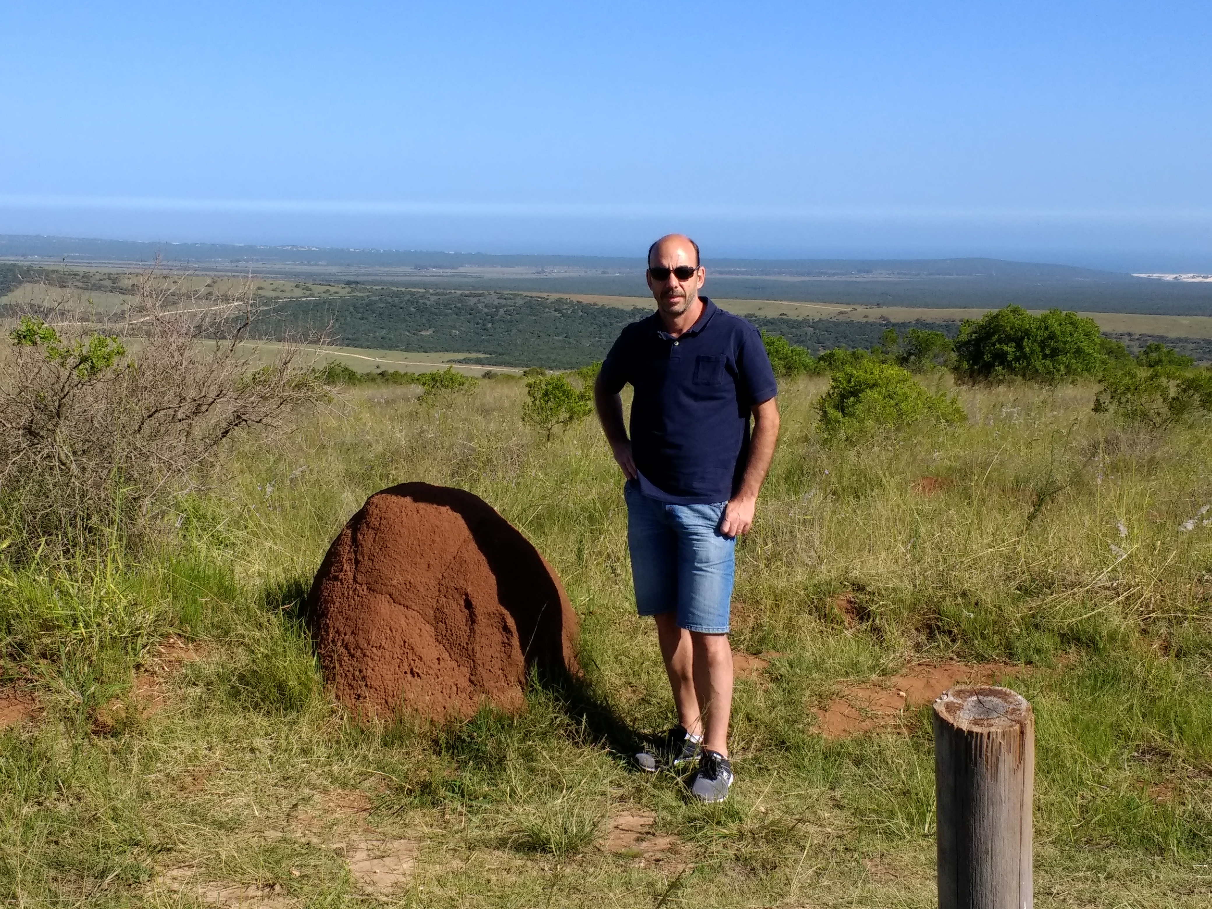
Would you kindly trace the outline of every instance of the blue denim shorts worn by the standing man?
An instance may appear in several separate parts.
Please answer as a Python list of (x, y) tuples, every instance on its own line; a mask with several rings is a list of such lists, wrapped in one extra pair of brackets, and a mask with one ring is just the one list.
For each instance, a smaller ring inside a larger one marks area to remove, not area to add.
[(727, 634), (736, 538), (720, 533), (727, 502), (675, 505), (623, 487), (635, 606), (641, 616), (678, 612), (678, 627)]

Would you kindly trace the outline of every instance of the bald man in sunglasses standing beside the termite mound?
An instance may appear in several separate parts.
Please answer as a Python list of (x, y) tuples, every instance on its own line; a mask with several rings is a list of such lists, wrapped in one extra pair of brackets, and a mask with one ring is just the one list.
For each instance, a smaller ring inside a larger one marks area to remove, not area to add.
[[(635, 605), (652, 616), (678, 725), (636, 764), (656, 771), (698, 756), (691, 794), (732, 785), (728, 607), (736, 538), (754, 519), (774, 454), (774, 373), (758, 331), (698, 295), (698, 246), (670, 234), (648, 250), (657, 311), (628, 325), (602, 364), (594, 404), (627, 484)], [(630, 383), (631, 434), (619, 391)], [(753, 415), (753, 435), (749, 417)]]

